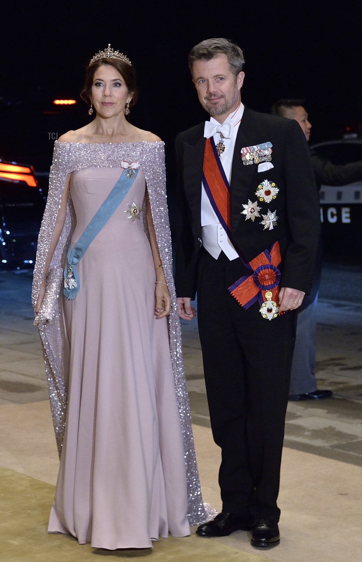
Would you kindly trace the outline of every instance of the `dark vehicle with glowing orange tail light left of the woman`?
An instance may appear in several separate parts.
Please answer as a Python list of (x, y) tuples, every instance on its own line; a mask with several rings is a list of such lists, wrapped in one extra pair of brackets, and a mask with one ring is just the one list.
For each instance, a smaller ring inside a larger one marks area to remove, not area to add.
[(54, 140), (84, 123), (78, 105), (0, 97), (0, 270), (34, 266)]

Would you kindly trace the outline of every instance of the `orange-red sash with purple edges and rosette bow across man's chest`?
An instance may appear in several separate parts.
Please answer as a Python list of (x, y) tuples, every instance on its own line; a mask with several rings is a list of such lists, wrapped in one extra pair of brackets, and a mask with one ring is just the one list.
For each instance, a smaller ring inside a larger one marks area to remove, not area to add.
[[(236, 249), (231, 234), (230, 185), (212, 137), (205, 140), (202, 178), (213, 210)], [(270, 250), (259, 253), (249, 263), (244, 260), (239, 250), (236, 251), (242, 263), (251, 273), (240, 277), (228, 288), (228, 291), (245, 310), (256, 301), (259, 301), (260, 306), (265, 300), (272, 300), (278, 304), (278, 285), (281, 279), (281, 273), (277, 267), (281, 262), (279, 242), (274, 242)], [(265, 293), (268, 291), (272, 293), (272, 298), (265, 298)]]

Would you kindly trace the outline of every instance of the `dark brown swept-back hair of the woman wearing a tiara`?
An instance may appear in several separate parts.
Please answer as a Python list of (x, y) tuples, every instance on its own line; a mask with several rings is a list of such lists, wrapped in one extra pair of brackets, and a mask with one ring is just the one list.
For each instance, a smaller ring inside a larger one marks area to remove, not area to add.
[(93, 85), (94, 74), (102, 65), (113, 66), (122, 76), (128, 91), (133, 94), (130, 101), (130, 107), (134, 106), (138, 99), (138, 87), (136, 83), (136, 72), (134, 66), (127, 65), (126, 62), (118, 58), (99, 58), (93, 65), (89, 65), (85, 69), (85, 78), (83, 88), (80, 90), (80, 97), (90, 105), (91, 87)]

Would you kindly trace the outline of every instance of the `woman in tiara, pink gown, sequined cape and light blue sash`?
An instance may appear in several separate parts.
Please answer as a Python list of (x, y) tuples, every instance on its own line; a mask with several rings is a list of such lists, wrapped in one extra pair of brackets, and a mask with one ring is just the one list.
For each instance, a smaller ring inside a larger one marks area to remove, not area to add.
[(206, 519), (164, 145), (126, 119), (134, 66), (110, 45), (91, 59), (81, 97), (95, 118), (55, 143), (32, 294), (60, 456), (48, 531), (142, 549)]

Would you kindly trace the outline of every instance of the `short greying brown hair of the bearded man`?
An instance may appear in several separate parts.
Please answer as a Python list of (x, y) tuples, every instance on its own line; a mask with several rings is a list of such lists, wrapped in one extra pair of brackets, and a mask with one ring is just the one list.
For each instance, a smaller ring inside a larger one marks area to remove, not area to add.
[(227, 56), (232, 73), (236, 78), (239, 72), (242, 71), (242, 65), (244, 65), (244, 54), (236, 43), (222, 37), (205, 39), (191, 49), (189, 55), (189, 67), (191, 72), (193, 71), (193, 64), (195, 61), (210, 61), (212, 58), (216, 57), (216, 55), (219, 55), (219, 53), (223, 53)]

